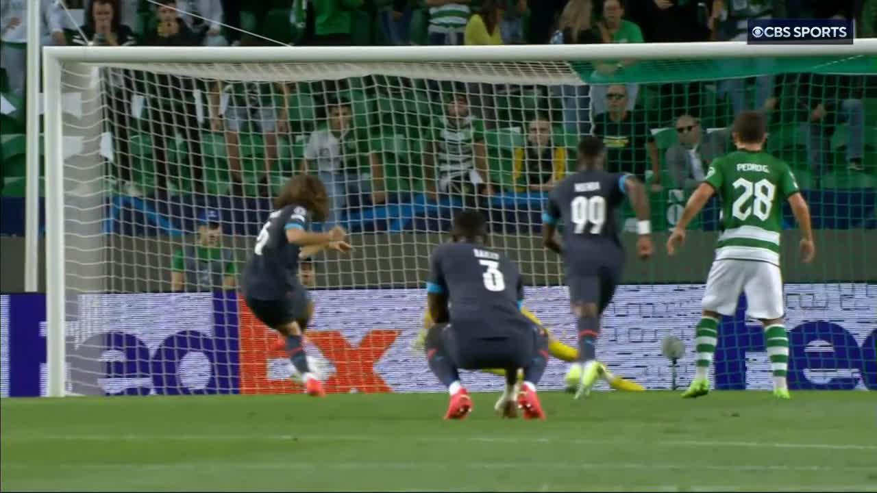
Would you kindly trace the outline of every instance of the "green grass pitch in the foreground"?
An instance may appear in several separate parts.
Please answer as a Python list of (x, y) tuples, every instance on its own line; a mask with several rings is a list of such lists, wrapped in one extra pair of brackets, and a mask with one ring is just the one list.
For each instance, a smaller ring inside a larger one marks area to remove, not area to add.
[(496, 397), (4, 399), (0, 489), (877, 489), (868, 392), (544, 393), (545, 422)]

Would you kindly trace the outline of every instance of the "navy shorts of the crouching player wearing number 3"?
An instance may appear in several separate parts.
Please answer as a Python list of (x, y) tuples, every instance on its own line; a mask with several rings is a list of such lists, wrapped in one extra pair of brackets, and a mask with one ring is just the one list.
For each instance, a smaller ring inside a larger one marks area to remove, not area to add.
[(545, 330), (536, 325), (528, 324), (499, 337), (481, 337), (477, 328), (453, 324), (433, 328), (457, 368), (525, 368), (538, 351), (548, 347)]

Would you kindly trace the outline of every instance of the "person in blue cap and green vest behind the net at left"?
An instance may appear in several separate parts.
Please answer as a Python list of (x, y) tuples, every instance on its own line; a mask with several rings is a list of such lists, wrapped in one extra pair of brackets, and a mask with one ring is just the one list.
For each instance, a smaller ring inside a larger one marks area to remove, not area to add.
[(238, 268), (231, 248), (222, 246), (222, 218), (208, 209), (198, 218), (198, 239), (174, 253), (170, 283), (174, 291), (234, 289)]

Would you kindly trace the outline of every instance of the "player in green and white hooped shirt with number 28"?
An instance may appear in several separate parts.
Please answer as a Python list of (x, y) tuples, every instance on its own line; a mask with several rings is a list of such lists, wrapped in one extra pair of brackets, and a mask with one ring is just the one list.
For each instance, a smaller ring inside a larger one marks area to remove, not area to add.
[(688, 199), (667, 239), (667, 253), (673, 255), (675, 247), (685, 241), (685, 227), (709, 197), (718, 193), (724, 232), (709, 269), (703, 316), (696, 328), (697, 374), (682, 397), (709, 393), (709, 365), (716, 351), (719, 319), (734, 314), (740, 292), (745, 292), (746, 313), (761, 320), (765, 327), (767, 354), (774, 371), (774, 396), (788, 399), (788, 336), (782, 325), (785, 310), (780, 273), (782, 201), (788, 200), (801, 227), (801, 254), (808, 263), (816, 254), (810, 212), (792, 170), (763, 151), (765, 119), (758, 112), (740, 113), (731, 134), (737, 150), (712, 162), (706, 179)]

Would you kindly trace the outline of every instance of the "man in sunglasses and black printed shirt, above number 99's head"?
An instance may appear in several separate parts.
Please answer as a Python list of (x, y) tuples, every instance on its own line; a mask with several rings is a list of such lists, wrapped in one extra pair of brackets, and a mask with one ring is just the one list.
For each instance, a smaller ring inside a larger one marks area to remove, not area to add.
[(658, 146), (649, 132), (644, 111), (627, 109), (627, 88), (610, 85), (606, 90), (609, 111), (594, 118), (594, 135), (602, 139), (607, 152), (607, 170), (631, 173), (643, 182), (646, 163), (652, 165), (652, 190), (660, 190)]

